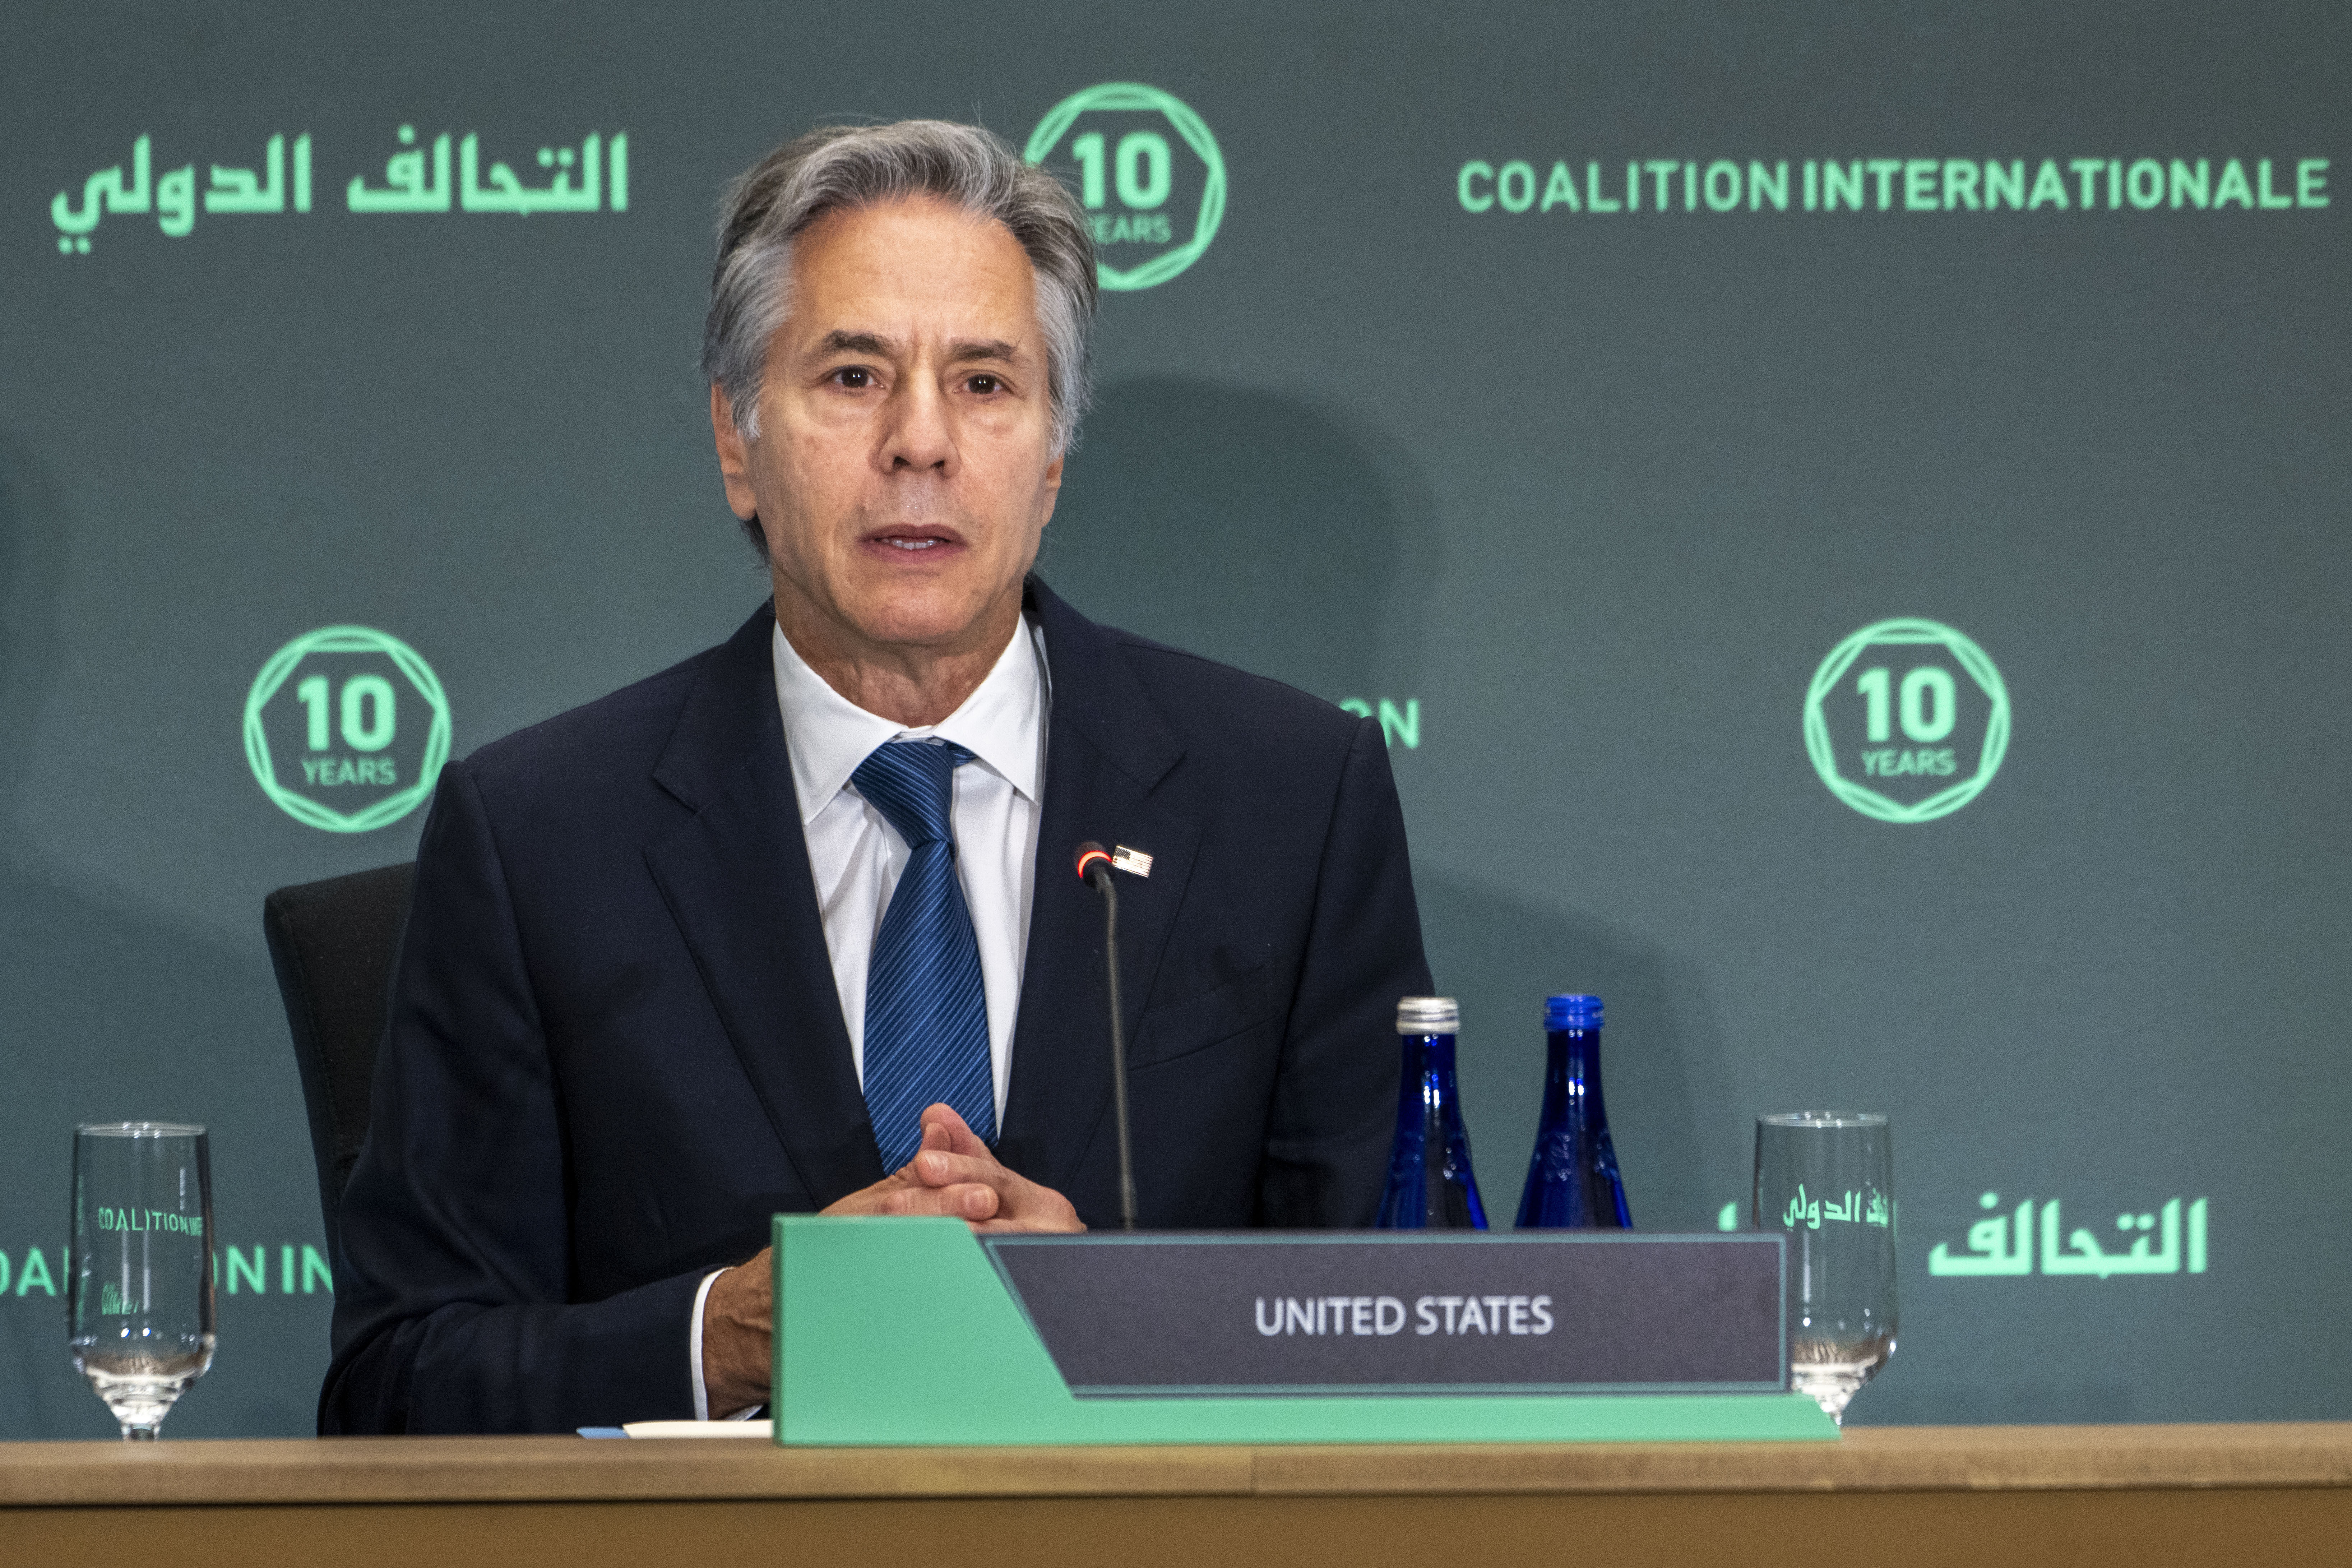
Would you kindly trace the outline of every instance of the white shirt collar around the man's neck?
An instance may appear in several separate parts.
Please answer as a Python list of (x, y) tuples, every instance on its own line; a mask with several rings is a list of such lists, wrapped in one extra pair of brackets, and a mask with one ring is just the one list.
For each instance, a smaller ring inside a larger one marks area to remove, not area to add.
[(1028, 618), (1014, 628), (997, 663), (962, 708), (924, 729), (908, 729), (866, 712), (828, 686), (781, 625), (769, 628), (769, 651), (776, 665), (776, 710), (783, 715), (786, 750), (793, 755), (793, 788), (800, 792), (802, 825), (830, 806), (858, 764), (887, 741), (955, 741), (1025, 795), (1030, 804), (1040, 799), (1047, 675), (1044, 649), (1037, 646)]

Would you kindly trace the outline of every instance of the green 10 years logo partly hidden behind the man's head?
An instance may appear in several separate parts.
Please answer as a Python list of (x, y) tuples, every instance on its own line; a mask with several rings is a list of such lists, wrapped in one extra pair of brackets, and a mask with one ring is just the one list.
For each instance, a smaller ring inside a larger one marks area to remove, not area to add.
[(1160, 87), (1073, 92), (1047, 110), (1021, 155), (1077, 169), (1101, 252), (1094, 275), (1105, 289), (1167, 282), (1200, 261), (1225, 221), (1225, 155), (1209, 125)]

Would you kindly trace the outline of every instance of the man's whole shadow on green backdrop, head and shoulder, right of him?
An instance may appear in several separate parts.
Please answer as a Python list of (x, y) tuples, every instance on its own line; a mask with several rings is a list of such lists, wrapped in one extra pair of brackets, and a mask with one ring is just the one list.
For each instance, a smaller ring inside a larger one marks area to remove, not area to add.
[[(1040, 574), (1098, 621), (1338, 701), (1418, 696), (1437, 508), (1409, 458), (1324, 407), (1188, 378), (1105, 388)], [(1402, 755), (1399, 769), (1409, 766)], [(1696, 969), (1604, 922), (1416, 870), (1489, 1215), (1517, 1211), (1543, 1098), (1543, 994), (1609, 999), (1609, 1117), (1644, 1229), (1712, 1229), (1745, 1124)], [(1705, 1086), (1700, 1091), (1698, 1086)]]

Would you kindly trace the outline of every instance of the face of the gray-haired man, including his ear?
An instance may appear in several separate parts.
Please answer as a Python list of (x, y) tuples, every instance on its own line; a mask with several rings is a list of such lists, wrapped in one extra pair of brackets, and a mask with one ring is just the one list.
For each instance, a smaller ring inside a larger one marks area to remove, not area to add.
[(1002, 223), (931, 197), (821, 219), (793, 247), (760, 440), (717, 388), (713, 428), (795, 644), (978, 654), (1011, 635), (1061, 458), (1037, 280)]

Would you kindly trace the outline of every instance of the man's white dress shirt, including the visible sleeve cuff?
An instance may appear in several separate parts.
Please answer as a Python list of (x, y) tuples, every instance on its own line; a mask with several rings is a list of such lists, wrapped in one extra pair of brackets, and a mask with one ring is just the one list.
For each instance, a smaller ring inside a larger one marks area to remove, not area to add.
[[(948, 823), (955, 832), (955, 875), (971, 910), (971, 936), (981, 945), (981, 987), (988, 997), (988, 1070), (1004, 1124), (1004, 1088), (1014, 1065), (1014, 1013), (1021, 1006), (1021, 966), (1028, 959), (1030, 889), (1037, 867), (1037, 799), (1044, 792), (1044, 736), (1051, 682), (1044, 637), (1025, 618), (1004, 644), (988, 677), (964, 705), (938, 724), (908, 729), (866, 712), (807, 665), (771, 630), (776, 710), (793, 755), (793, 790), (800, 797), (800, 832), (809, 844), (809, 875), (826, 922), (833, 985), (849, 1025), (849, 1060), (858, 1088), (866, 1086), (866, 969), (875, 933), (889, 910), (891, 889), (906, 870), (908, 846), (875, 806), (866, 804), (849, 776), (889, 741), (953, 741), (971, 752), (955, 769)], [(703, 1389), (703, 1302), (715, 1269), (694, 1293), (689, 1354), (694, 1361), (694, 1418), (710, 1420)]]

